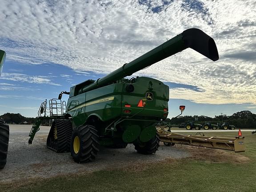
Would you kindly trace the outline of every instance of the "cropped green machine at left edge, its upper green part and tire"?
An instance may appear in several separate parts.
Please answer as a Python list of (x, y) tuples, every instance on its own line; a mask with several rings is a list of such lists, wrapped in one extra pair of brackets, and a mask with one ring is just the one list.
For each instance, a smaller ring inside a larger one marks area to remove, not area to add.
[[(0, 50), (0, 76), (3, 70), (5, 60), (5, 52)], [(0, 169), (6, 164), (7, 152), (9, 144), (9, 125), (0, 119)]]

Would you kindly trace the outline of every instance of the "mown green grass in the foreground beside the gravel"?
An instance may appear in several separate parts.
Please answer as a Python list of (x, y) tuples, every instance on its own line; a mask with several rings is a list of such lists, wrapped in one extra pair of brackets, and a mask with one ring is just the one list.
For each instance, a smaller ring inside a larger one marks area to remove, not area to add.
[[(207, 133), (208, 134), (208, 133)], [(234, 137), (233, 132), (214, 136)], [(208, 134), (209, 135), (209, 134)], [(246, 152), (193, 148), (189, 158), (153, 164), (4, 183), (0, 191), (15, 192), (254, 192), (256, 135), (244, 132)]]

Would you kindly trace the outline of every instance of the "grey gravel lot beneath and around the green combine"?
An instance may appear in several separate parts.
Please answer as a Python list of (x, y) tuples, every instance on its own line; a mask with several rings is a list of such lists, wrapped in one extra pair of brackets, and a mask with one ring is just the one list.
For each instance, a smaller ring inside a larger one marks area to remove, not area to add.
[[(23, 126), (24, 127), (24, 126)], [(17, 126), (15, 127), (17, 129)], [(138, 163), (150, 163), (166, 158), (182, 158), (189, 153), (175, 147), (160, 145), (156, 154), (141, 155), (132, 144), (127, 148), (100, 148), (95, 161), (77, 164), (70, 153), (56, 153), (46, 148), (45, 131), (38, 132), (33, 144), (28, 145), (28, 133), (10, 127), (7, 164), (0, 170), (0, 182), (24, 180), (33, 177), (51, 177), (76, 172), (92, 172), (106, 168), (121, 168)], [(30, 126), (31, 128), (31, 126)]]

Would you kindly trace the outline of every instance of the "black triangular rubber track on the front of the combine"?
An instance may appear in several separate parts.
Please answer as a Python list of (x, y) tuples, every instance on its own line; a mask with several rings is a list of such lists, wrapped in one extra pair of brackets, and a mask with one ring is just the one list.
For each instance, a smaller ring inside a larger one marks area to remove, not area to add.
[(46, 145), (57, 153), (69, 152), (72, 136), (72, 122), (70, 120), (54, 120), (50, 129)]

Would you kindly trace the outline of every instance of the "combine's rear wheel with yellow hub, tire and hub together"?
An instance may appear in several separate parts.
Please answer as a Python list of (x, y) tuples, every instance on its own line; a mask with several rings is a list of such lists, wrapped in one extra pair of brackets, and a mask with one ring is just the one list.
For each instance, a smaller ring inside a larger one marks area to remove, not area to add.
[(94, 126), (81, 125), (73, 131), (70, 151), (75, 162), (86, 163), (95, 160), (99, 147), (99, 136)]

